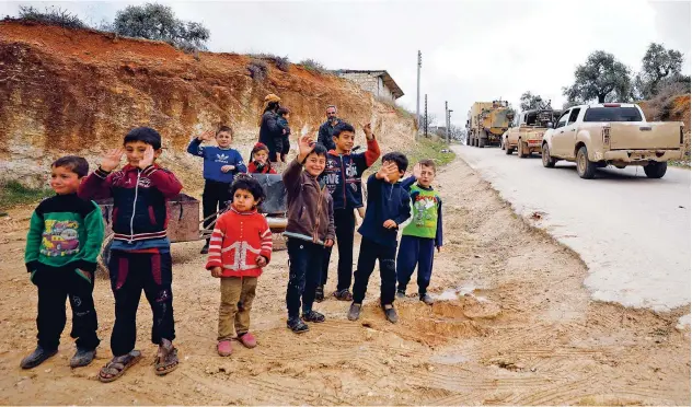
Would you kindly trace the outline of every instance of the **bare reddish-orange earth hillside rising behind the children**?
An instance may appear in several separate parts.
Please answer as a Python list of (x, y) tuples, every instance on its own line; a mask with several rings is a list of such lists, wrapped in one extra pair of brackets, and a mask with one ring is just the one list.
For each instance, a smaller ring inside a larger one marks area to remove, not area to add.
[(95, 164), (130, 128), (146, 125), (165, 139), (164, 165), (195, 190), (201, 163), (185, 153), (191, 136), (230, 124), (246, 156), (268, 93), (291, 108), (295, 133), (316, 131), (325, 107), (335, 104), (354, 125), (372, 123), (383, 150), (411, 148), (413, 117), (354, 83), (295, 65), (282, 72), (272, 63), (266, 79), (256, 81), (250, 61), (235, 54), (195, 57), (164, 43), (95, 31), (0, 22), (0, 179), (38, 185), (51, 160), (66, 153)]

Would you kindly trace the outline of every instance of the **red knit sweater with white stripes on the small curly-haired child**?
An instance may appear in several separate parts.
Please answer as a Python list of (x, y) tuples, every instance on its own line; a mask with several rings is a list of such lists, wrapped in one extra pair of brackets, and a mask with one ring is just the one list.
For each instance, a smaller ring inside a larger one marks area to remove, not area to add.
[(256, 210), (239, 212), (231, 207), (217, 220), (209, 242), (207, 270), (223, 269), (221, 277), (258, 277), (257, 257), (272, 258), (272, 232)]

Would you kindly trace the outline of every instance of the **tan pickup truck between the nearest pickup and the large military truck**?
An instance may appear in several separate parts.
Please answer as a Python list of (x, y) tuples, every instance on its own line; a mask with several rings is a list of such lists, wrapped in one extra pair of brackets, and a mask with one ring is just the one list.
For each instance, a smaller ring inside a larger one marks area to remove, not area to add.
[(534, 109), (522, 112), (509, 130), (505, 131), (500, 140), (500, 149), (510, 155), (517, 150), (520, 159), (534, 152), (541, 152), (543, 133), (547, 130), (547, 124), (556, 121), (560, 111)]

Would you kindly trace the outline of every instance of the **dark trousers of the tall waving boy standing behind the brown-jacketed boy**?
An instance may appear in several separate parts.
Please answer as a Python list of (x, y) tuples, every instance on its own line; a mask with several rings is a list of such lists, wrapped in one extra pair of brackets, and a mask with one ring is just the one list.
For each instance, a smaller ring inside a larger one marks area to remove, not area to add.
[[(338, 248), (338, 268), (336, 290), (347, 290), (354, 274), (354, 235), (356, 232), (356, 216), (353, 209), (334, 209), (334, 229), (336, 231), (336, 247)], [(326, 284), (332, 247), (325, 249), (322, 267), (322, 286)]]

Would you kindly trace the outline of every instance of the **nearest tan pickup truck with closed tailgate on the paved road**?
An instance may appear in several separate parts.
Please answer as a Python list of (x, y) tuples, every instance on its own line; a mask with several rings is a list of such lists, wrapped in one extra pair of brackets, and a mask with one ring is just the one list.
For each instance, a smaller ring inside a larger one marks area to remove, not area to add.
[(634, 104), (574, 106), (543, 135), (543, 166), (574, 161), (581, 178), (593, 178), (599, 167), (642, 165), (646, 176), (660, 178), (668, 160), (683, 155), (683, 126), (681, 121), (647, 123)]

